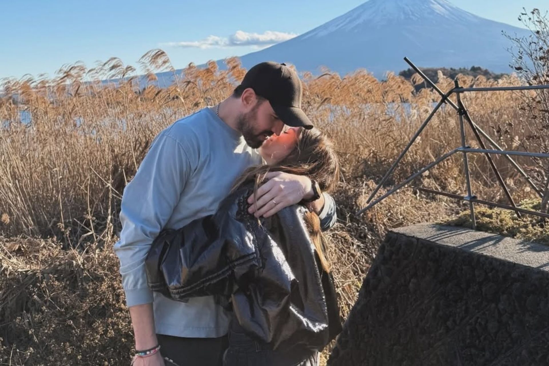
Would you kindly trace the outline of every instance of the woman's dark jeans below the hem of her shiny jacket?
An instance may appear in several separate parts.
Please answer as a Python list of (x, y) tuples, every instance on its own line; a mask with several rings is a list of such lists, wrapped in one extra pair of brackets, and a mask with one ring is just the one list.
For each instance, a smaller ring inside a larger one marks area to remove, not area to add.
[(223, 366), (317, 366), (318, 352), (310, 350), (273, 351), (270, 345), (243, 333), (237, 324), (229, 330), (229, 347)]

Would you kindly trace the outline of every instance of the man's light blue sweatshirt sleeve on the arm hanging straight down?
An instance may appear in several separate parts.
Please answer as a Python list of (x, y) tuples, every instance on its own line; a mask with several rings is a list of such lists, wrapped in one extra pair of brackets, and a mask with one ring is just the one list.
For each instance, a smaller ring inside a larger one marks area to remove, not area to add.
[(114, 251), (120, 260), (128, 307), (153, 302), (145, 258), (178, 204), (191, 172), (192, 161), (182, 143), (163, 132), (124, 189), (120, 211), (122, 231)]

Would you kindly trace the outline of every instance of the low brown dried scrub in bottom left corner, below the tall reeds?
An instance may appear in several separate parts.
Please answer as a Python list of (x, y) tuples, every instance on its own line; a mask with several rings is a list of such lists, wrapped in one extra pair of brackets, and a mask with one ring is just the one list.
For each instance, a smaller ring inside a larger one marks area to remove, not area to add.
[(130, 364), (133, 334), (112, 251), (0, 237), (0, 262), (0, 364)]

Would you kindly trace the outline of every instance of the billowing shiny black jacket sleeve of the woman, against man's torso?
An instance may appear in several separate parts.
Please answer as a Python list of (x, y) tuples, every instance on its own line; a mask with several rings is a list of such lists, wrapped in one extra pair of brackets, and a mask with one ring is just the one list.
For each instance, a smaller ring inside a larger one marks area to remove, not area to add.
[[(215, 215), (196, 219), (174, 230), (163, 230), (145, 259), (150, 289), (173, 300), (231, 296), (237, 272), (260, 267), (251, 230), (252, 215), (242, 215), (244, 196), (231, 195)], [(246, 212), (247, 213), (247, 212)]]

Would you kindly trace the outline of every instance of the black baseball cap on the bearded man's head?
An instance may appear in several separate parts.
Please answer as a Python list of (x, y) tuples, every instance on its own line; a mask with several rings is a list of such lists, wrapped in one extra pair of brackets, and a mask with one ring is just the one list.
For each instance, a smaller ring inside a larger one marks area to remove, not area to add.
[(301, 80), (288, 65), (271, 61), (257, 64), (244, 75), (240, 88), (252, 88), (255, 94), (267, 99), (285, 125), (313, 127), (301, 109)]

